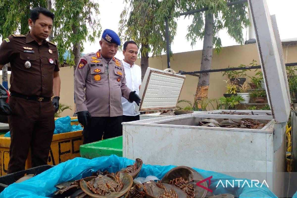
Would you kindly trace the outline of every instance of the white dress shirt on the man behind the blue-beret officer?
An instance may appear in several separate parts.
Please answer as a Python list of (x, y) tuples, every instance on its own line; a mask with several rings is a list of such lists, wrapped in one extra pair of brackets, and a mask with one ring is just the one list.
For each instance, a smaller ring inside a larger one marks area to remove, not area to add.
[[(126, 63), (124, 60), (122, 61), (125, 69), (126, 76), (126, 85), (132, 90), (136, 91), (136, 94), (139, 95), (139, 85), (141, 85), (141, 69), (138, 65), (132, 65)], [(137, 105), (135, 102), (130, 103), (127, 99), (122, 97), (122, 105), (123, 105), (123, 115), (136, 116), (139, 115), (139, 112), (135, 112), (135, 106)]]

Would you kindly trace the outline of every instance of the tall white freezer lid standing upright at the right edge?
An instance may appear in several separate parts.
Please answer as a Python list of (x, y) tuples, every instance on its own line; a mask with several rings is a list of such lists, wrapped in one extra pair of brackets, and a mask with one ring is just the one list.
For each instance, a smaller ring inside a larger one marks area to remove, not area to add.
[(276, 123), (287, 122), (290, 94), (282, 45), (275, 16), (270, 16), (266, 0), (248, 0), (268, 102)]

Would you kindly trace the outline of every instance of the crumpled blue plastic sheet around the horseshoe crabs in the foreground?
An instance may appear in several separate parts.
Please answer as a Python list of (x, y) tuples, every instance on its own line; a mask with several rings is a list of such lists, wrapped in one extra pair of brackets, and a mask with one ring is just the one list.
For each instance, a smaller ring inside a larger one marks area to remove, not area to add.
[[(94, 159), (75, 158), (56, 165), (49, 170), (42, 172), (35, 177), (23, 181), (22, 183), (13, 183), (1, 192), (0, 198), (14, 198), (14, 197), (36, 197), (44, 198), (53, 195), (57, 190), (56, 184), (64, 181), (78, 180), (83, 177), (88, 177), (91, 172), (98, 170), (108, 170), (109, 172), (116, 172), (127, 165), (133, 164), (134, 160), (116, 155), (98, 157)], [(145, 165), (140, 171), (139, 177), (146, 177), (154, 175), (161, 179), (166, 172), (175, 166), (152, 166)], [(228, 175), (217, 172), (206, 171), (194, 168), (204, 178), (212, 176), (211, 185), (208, 187), (213, 190), (214, 194), (230, 193), (235, 197), (277, 197), (266, 186), (261, 188), (249, 188), (244, 186), (242, 188), (216, 188), (219, 180), (234, 179)]]

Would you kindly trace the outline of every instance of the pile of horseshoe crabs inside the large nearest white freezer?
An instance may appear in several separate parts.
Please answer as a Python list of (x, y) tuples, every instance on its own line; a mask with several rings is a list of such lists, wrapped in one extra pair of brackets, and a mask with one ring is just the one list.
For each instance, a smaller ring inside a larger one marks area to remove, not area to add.
[(262, 129), (269, 121), (253, 120), (250, 118), (243, 119), (222, 119), (206, 118), (198, 123), (198, 126), (241, 128), (241, 129)]

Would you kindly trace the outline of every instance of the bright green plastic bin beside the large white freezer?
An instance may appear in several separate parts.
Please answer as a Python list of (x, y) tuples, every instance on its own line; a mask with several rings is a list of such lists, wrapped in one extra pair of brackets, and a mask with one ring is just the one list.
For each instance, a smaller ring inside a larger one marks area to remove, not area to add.
[(80, 156), (87, 159), (110, 156), (123, 156), (123, 136), (80, 145)]

